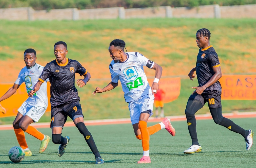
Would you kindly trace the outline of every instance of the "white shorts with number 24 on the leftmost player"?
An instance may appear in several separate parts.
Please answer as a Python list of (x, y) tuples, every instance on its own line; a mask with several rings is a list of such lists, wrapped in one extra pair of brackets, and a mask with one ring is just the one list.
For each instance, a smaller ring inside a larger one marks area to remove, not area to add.
[(35, 122), (38, 122), (38, 120), (44, 115), (45, 111), (47, 109), (47, 105), (42, 104), (40, 102), (28, 102), (27, 100), (22, 103), (20, 108), (18, 109), (18, 112), (21, 113), (23, 116), (27, 115), (31, 119), (33, 119)]

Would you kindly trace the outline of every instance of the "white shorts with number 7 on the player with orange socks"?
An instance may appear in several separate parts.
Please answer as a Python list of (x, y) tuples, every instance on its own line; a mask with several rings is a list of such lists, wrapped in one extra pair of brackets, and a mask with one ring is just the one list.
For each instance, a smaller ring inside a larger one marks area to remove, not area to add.
[(129, 110), (132, 124), (136, 124), (139, 122), (141, 112), (150, 111), (150, 116), (153, 115), (154, 99), (155, 97), (153, 94), (148, 94), (132, 102), (129, 102)]

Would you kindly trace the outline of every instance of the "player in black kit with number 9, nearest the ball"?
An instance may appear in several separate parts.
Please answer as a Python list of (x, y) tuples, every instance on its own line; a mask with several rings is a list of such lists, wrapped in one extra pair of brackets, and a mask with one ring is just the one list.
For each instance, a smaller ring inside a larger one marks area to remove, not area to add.
[(78, 97), (78, 91), (75, 87), (75, 73), (84, 76), (84, 79), (77, 80), (79, 88), (86, 85), (91, 75), (78, 61), (66, 58), (67, 53), (67, 44), (65, 42), (58, 41), (55, 43), (54, 54), (56, 60), (51, 61), (44, 67), (38, 82), (33, 87), (33, 90), (28, 93), (28, 96), (32, 97), (40, 89), (42, 83), (49, 78), (51, 83), (52, 142), (60, 144), (58, 155), (62, 156), (65, 153), (66, 146), (70, 141), (68, 136), (61, 136), (63, 126), (69, 116), (95, 155), (96, 164), (101, 164), (104, 163), (104, 160), (99, 154), (91, 133), (84, 125), (82, 108), (79, 103), (80, 97)]

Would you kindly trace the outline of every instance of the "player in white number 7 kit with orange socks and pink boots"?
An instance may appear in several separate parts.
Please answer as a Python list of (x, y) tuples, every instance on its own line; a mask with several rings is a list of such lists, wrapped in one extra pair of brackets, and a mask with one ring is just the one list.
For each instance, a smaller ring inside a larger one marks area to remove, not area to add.
[[(147, 127), (147, 120), (152, 116), (154, 95), (157, 92), (158, 81), (162, 76), (162, 67), (148, 60), (138, 52), (124, 52), (125, 42), (115, 39), (109, 44), (109, 65), (112, 81), (103, 89), (97, 87), (93, 94), (110, 91), (122, 84), (124, 99), (129, 103), (130, 117), (137, 139), (142, 140), (143, 157), (137, 163), (151, 163), (149, 157), (149, 136), (165, 128), (172, 136), (175, 130), (170, 119), (165, 118), (161, 123)], [(155, 69), (156, 76), (152, 87), (149, 86), (143, 66)]]

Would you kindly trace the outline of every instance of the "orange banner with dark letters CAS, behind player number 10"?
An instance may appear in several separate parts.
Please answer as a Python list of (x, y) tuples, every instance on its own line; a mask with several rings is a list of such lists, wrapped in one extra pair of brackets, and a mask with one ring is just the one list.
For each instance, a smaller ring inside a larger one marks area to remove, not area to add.
[(222, 75), (222, 100), (256, 100), (256, 75)]

